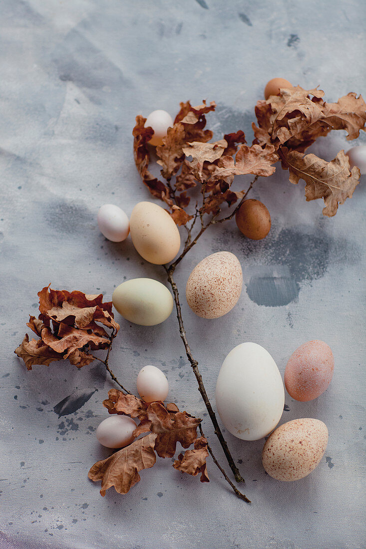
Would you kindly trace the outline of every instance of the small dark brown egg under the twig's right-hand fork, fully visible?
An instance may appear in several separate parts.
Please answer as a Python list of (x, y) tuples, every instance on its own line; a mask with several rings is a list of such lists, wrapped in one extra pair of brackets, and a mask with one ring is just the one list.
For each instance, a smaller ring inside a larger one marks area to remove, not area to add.
[(269, 211), (262, 202), (253, 198), (243, 201), (235, 214), (235, 221), (239, 231), (251, 240), (262, 240), (271, 228)]

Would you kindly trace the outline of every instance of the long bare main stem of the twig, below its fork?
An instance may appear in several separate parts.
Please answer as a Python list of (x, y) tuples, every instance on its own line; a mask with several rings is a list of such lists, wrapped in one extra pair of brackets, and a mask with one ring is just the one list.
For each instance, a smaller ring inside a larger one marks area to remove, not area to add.
[[(207, 227), (205, 227), (205, 228), (207, 228)], [(202, 231), (202, 229), (201, 229), (201, 231)], [(193, 243), (192, 243), (192, 245), (193, 245)], [(234, 460), (231, 456), (230, 450), (228, 448), (228, 444), (226, 444), (226, 440), (224, 439), (224, 435), (223, 435), (223, 433), (221, 433), (221, 429), (219, 427), (217, 417), (215, 416), (215, 412), (213, 411), (211, 403), (208, 399), (206, 389), (204, 388), (201, 373), (199, 373), (198, 362), (195, 360), (195, 358), (193, 358), (190, 346), (188, 345), (187, 335), (186, 335), (186, 331), (185, 331), (183, 320), (182, 320), (182, 313), (181, 313), (181, 308), (180, 308), (178, 288), (177, 288), (177, 285), (174, 282), (174, 278), (173, 278), (173, 272), (174, 272), (175, 267), (173, 267), (173, 266), (170, 266), (170, 267), (164, 266), (164, 268), (165, 268), (165, 271), (167, 271), (168, 281), (171, 285), (171, 289), (173, 290), (173, 294), (174, 294), (175, 308), (176, 308), (177, 318), (178, 318), (178, 322), (179, 322), (180, 337), (183, 341), (188, 360), (190, 361), (193, 372), (195, 373), (197, 383), (198, 383), (198, 390), (201, 393), (203, 402), (204, 402), (204, 404), (207, 408), (208, 414), (209, 414), (210, 419), (212, 421), (212, 424), (215, 428), (215, 435), (219, 439), (219, 442), (220, 442), (220, 444), (221, 444), (221, 446), (224, 450), (226, 459), (228, 460), (230, 468), (231, 468), (232, 472), (234, 473), (235, 480), (237, 482), (244, 482), (244, 479), (242, 478), (242, 476), (239, 472), (239, 469), (236, 467), (236, 465), (234, 463)]]

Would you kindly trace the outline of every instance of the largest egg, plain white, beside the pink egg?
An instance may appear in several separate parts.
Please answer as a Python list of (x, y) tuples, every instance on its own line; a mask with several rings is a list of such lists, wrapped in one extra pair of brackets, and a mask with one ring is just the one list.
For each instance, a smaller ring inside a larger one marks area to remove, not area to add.
[(242, 440), (258, 440), (273, 430), (284, 411), (281, 374), (268, 351), (241, 343), (226, 356), (216, 383), (221, 421)]

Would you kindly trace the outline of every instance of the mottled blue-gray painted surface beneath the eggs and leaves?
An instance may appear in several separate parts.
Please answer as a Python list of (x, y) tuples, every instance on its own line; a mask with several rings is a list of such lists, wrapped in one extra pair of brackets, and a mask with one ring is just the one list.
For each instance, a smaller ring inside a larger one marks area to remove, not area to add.
[[(28, 313), (37, 311), (37, 291), (50, 281), (107, 299), (126, 278), (164, 282), (162, 268), (143, 262), (130, 239), (107, 242), (96, 225), (103, 203), (130, 214), (137, 201), (150, 199), (131, 152), (137, 113), (175, 114), (180, 100), (207, 98), (218, 103), (209, 115), (215, 136), (243, 129), (251, 141), (254, 105), (273, 76), (306, 88), (320, 84), (328, 100), (365, 92), (365, 3), (2, 0), (0, 12), (0, 546), (365, 547), (364, 178), (328, 219), (320, 201), (306, 203), (303, 182), (292, 186), (279, 167), (252, 193), (270, 210), (269, 237), (250, 242), (234, 222), (219, 226), (177, 272), (184, 295), (192, 268), (214, 251), (234, 252), (243, 267), (243, 292), (229, 315), (202, 320), (183, 299), (213, 401), (220, 365), (242, 341), (268, 349), (282, 375), (304, 341), (331, 346), (329, 390), (308, 404), (286, 394), (281, 419), (315, 417), (328, 425), (325, 456), (308, 478), (269, 478), (263, 440), (226, 433), (251, 506), (232, 495), (211, 461), (208, 485), (159, 460), (128, 495), (111, 489), (102, 498), (87, 472), (109, 453), (95, 438), (112, 387), (103, 367), (53, 363), (26, 372), (13, 354)], [(350, 146), (337, 132), (312, 150), (330, 160)], [(239, 178), (237, 188), (247, 183)], [(156, 365), (167, 374), (170, 399), (206, 418), (174, 315), (150, 329), (117, 320), (111, 365), (125, 385), (135, 390), (140, 368)], [(208, 421), (204, 430), (223, 461)]]

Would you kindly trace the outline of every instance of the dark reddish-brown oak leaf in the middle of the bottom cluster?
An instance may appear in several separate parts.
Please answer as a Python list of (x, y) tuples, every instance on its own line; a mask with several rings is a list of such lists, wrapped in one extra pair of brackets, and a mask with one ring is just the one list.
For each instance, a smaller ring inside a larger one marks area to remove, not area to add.
[(155, 450), (159, 457), (173, 457), (177, 442), (184, 448), (191, 446), (197, 438), (197, 427), (201, 419), (187, 412), (170, 413), (159, 402), (152, 402), (147, 408), (151, 421), (151, 432), (157, 434)]

